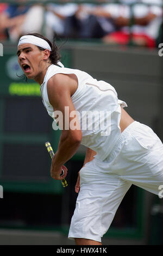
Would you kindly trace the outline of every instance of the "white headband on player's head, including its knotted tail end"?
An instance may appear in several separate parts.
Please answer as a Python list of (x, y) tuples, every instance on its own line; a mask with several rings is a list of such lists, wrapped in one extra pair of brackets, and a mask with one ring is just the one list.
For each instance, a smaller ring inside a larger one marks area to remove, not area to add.
[[(21, 44), (34, 44), (36, 46), (40, 46), (43, 49), (48, 49), (49, 51), (52, 51), (51, 46), (48, 44), (48, 42), (40, 37), (35, 37), (34, 35), (23, 35), (18, 41), (18, 45)], [(64, 65), (58, 61), (57, 64), (61, 67), (64, 67)]]

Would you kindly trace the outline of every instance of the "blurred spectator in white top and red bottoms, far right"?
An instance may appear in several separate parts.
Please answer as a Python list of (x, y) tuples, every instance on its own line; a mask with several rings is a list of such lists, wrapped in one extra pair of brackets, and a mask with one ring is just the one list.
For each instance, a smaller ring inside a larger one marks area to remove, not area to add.
[[(153, 1), (152, 5), (143, 4), (143, 1), (147, 2), (142, 0), (142, 4), (135, 4), (131, 9), (126, 4), (108, 4), (108, 7), (105, 7), (118, 26), (117, 32), (103, 38), (105, 43), (128, 44), (131, 40), (135, 45), (155, 47), (162, 22), (162, 7), (155, 5), (155, 0), (150, 0), (150, 3)], [(133, 24), (130, 24), (130, 21)]]

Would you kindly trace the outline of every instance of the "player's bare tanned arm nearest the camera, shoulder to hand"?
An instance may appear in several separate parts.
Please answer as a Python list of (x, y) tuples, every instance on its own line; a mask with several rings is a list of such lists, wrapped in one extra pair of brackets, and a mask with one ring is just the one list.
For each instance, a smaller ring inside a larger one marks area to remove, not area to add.
[[(61, 136), (59, 140), (58, 150), (52, 159), (51, 176), (56, 180), (60, 180), (60, 173), (62, 165), (64, 165), (78, 150), (80, 142), (82, 140), (82, 132), (79, 127), (79, 122), (76, 116), (76, 129), (71, 128), (71, 121), (73, 117), (70, 117), (70, 113), (75, 108), (71, 100), (71, 91), (73, 87), (73, 80), (70, 76), (64, 74), (54, 75), (49, 79), (47, 83), (47, 92), (49, 102), (53, 106), (54, 111), (60, 111), (63, 117), (63, 129), (61, 130)], [(65, 106), (68, 107), (68, 117), (65, 118)], [(65, 120), (68, 121), (65, 127)]]

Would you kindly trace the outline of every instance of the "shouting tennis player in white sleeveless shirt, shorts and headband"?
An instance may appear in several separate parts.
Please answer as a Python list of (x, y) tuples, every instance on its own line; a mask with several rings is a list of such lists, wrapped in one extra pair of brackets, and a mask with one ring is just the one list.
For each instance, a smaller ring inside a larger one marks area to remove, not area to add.
[[(66, 177), (67, 171), (60, 177), (62, 165), (80, 144), (87, 147), (68, 237), (76, 245), (101, 245), (101, 237), (131, 184), (159, 194), (163, 184), (162, 142), (151, 128), (127, 114), (123, 109), (127, 104), (118, 99), (114, 87), (81, 70), (62, 66), (54, 40), (51, 43), (40, 34), (24, 35), (18, 42), (17, 56), (27, 78), (40, 84), (48, 114), (58, 121), (61, 112), (63, 120), (68, 120), (52, 159), (51, 176), (55, 180)], [(101, 118), (86, 126), (82, 117), (87, 111), (96, 111)]]

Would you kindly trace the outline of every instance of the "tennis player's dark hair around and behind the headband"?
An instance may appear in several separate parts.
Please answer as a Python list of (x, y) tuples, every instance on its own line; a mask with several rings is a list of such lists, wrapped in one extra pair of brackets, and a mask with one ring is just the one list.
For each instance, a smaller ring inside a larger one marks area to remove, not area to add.
[[(47, 43), (51, 46), (51, 55), (49, 56), (49, 59), (51, 60), (51, 63), (54, 65), (57, 65), (57, 62), (60, 61), (61, 55), (59, 52), (59, 47), (57, 46), (57, 44), (55, 43), (55, 35), (53, 37), (52, 43), (51, 41), (49, 41), (49, 39), (47, 39), (46, 37), (44, 37), (44, 35), (39, 34), (39, 33), (29, 33), (27, 35), (34, 35), (35, 37), (39, 37), (42, 38), (44, 40), (47, 41)], [(40, 46), (37, 46), (41, 51), (44, 51), (45, 49), (43, 49)]]

